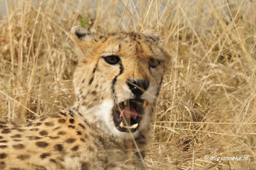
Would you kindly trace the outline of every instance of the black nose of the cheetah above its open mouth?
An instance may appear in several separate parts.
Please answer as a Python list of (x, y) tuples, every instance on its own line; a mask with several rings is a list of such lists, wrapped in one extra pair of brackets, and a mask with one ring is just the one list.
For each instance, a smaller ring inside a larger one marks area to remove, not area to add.
[(139, 98), (148, 89), (149, 86), (147, 81), (137, 79), (128, 80), (127, 84), (136, 98)]

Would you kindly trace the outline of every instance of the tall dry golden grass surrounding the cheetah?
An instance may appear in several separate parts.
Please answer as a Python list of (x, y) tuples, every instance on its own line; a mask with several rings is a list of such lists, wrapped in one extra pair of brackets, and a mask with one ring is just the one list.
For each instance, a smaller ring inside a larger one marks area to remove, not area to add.
[(72, 105), (73, 25), (96, 35), (154, 29), (172, 61), (148, 168), (255, 169), (255, 1), (6, 0), (0, 6), (0, 117), (25, 122)]

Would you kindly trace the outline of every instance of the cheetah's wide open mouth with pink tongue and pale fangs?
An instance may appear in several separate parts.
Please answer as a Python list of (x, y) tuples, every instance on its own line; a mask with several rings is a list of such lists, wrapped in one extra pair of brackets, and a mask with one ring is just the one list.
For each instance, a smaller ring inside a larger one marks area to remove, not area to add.
[(147, 101), (142, 99), (125, 100), (113, 109), (116, 129), (121, 132), (135, 132), (140, 126)]

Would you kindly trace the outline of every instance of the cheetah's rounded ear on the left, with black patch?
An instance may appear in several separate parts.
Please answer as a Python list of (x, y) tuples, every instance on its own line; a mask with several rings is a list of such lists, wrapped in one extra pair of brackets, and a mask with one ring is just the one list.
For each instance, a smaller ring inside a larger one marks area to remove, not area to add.
[(97, 39), (96, 36), (80, 25), (71, 28), (69, 37), (75, 44), (76, 54), (80, 57), (86, 56), (87, 49), (92, 46), (93, 40)]

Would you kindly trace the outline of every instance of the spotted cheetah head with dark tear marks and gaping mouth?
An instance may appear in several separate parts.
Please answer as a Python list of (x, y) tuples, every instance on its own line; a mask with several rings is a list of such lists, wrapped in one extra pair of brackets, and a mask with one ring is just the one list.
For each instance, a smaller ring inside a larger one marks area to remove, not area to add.
[(150, 131), (170, 59), (160, 34), (148, 30), (96, 37), (75, 26), (70, 38), (79, 60), (76, 102), (86, 121), (119, 138)]

